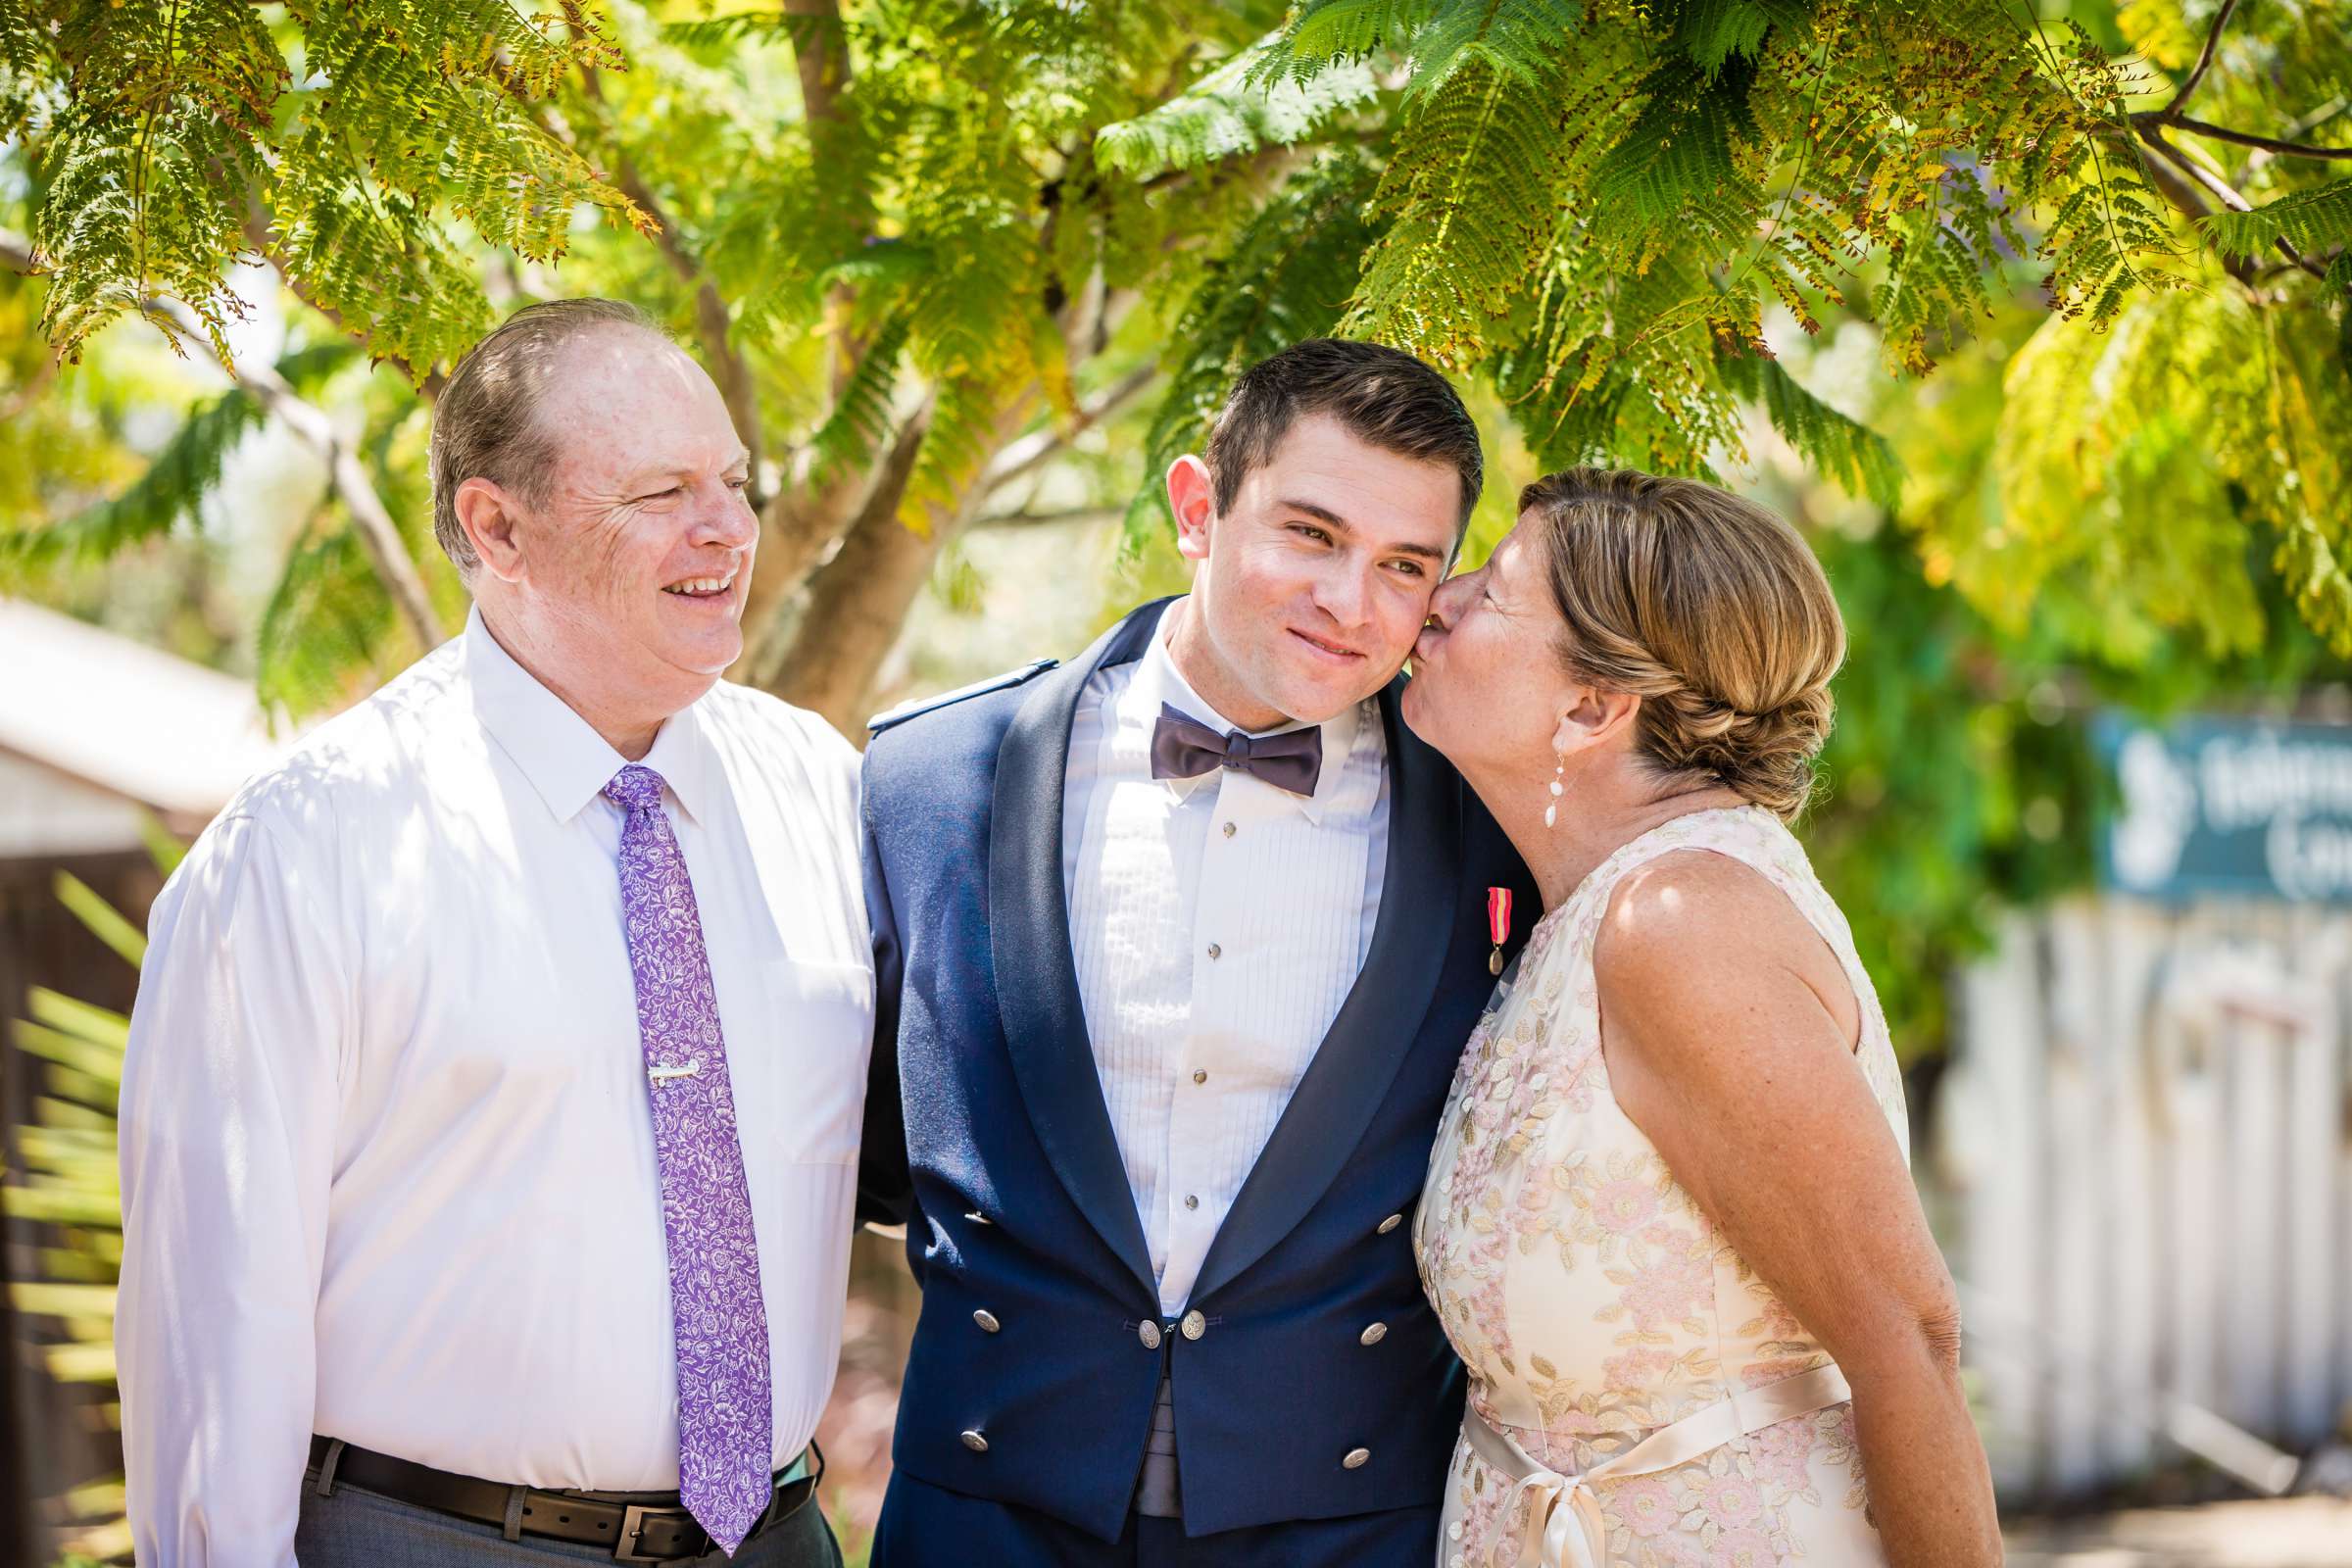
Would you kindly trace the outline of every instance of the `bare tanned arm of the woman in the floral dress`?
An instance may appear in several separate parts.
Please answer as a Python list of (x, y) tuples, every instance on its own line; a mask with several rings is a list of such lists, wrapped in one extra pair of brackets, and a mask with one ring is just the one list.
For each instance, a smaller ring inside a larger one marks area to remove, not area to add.
[(1677, 853), (1618, 889), (1595, 976), (1618, 1105), (1853, 1385), (1889, 1561), (1999, 1563), (1952, 1276), (1853, 1058), (1837, 957), (1755, 870)]

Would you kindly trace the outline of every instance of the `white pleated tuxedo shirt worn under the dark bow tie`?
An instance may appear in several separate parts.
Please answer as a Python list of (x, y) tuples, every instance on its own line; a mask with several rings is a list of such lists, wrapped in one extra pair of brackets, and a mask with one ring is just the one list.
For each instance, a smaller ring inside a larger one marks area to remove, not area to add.
[(1324, 722), (1312, 797), (1225, 769), (1152, 778), (1162, 703), (1237, 729), (1176, 670), (1176, 614), (1087, 679), (1061, 811), (1077, 994), (1169, 1316), (1364, 966), (1388, 870), (1371, 698)]

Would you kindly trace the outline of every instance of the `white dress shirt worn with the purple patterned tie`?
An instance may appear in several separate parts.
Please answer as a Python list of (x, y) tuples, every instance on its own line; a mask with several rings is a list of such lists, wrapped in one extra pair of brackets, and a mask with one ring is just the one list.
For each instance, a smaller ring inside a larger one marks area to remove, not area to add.
[[(320, 726), (155, 903), (115, 1347), (139, 1561), (292, 1563), (313, 1432), (677, 1486), (626, 764), (485, 630)], [(743, 1140), (776, 1465), (833, 1387), (873, 966), (856, 755), (715, 686), (661, 726)]]

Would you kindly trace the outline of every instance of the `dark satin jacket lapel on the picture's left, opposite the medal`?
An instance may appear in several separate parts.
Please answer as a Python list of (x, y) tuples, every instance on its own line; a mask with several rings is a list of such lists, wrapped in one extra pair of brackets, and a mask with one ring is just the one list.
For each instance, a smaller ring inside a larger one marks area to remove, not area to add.
[(1070, 715), (1096, 668), (1136, 658), (1160, 625), (1145, 604), (1087, 654), (1037, 677), (997, 745), (988, 818), (988, 947), (997, 1013), (1030, 1126), (1061, 1185), (1145, 1288), (1152, 1258), (1127, 1185), (1110, 1107), (1094, 1070), (1087, 1009), (1070, 957), (1070, 900), (1061, 884), (1061, 795), (1070, 759)]

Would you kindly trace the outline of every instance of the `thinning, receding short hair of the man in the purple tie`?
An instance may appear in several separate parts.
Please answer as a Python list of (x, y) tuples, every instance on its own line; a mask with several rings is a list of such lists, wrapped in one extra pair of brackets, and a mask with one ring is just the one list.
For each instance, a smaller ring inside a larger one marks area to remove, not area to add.
[(663, 343), (661, 322), (621, 299), (546, 299), (492, 327), (449, 371), (433, 402), (433, 536), (470, 574), (480, 559), (456, 522), (456, 487), (492, 480), (532, 503), (548, 498), (555, 433), (539, 423), (539, 400), (555, 378), (564, 346), (595, 331), (630, 327)]

